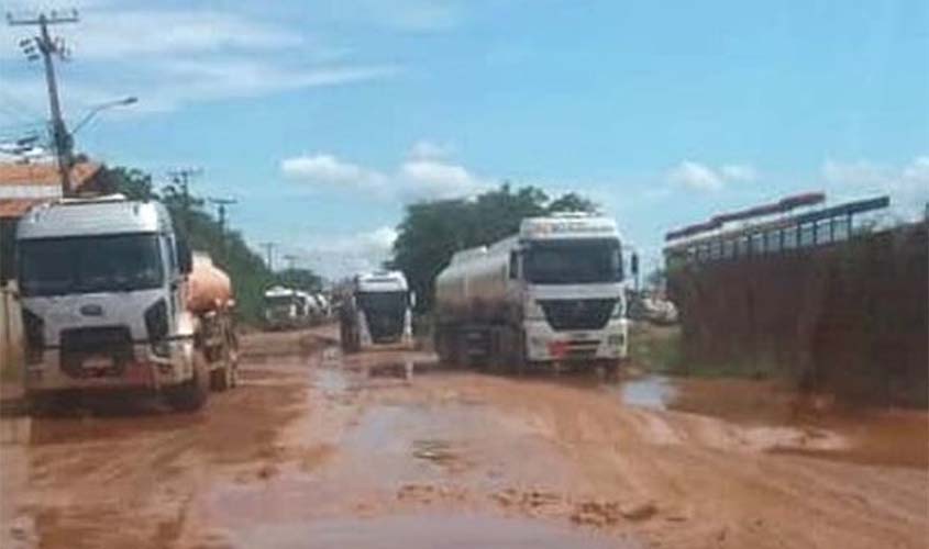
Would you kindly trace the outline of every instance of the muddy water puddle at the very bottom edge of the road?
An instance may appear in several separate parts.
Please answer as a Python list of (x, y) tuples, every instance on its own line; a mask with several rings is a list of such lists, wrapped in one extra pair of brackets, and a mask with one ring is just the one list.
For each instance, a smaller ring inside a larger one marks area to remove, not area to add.
[(250, 527), (235, 533), (233, 547), (267, 549), (461, 549), (469, 547), (538, 549), (640, 548), (634, 540), (538, 520), (488, 515), (422, 514), (378, 518), (339, 518)]

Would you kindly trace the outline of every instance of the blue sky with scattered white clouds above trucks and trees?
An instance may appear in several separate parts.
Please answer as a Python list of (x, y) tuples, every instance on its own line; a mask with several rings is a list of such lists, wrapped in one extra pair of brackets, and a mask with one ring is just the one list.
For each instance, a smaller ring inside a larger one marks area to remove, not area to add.
[[(29, 13), (36, 2), (5, 5)], [(237, 198), (233, 225), (335, 276), (405, 203), (504, 179), (587, 193), (654, 258), (668, 228), (784, 194), (929, 200), (929, 2), (78, 3), (67, 113), (110, 164)], [(0, 30), (0, 139), (41, 122)]]

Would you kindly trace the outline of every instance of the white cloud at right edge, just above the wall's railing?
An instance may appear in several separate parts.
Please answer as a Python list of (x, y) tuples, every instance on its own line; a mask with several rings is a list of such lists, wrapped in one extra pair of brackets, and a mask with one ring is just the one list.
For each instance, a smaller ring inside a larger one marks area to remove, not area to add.
[(892, 210), (905, 219), (922, 215), (929, 202), (929, 155), (917, 156), (904, 166), (827, 159), (821, 176), (839, 200), (888, 194)]

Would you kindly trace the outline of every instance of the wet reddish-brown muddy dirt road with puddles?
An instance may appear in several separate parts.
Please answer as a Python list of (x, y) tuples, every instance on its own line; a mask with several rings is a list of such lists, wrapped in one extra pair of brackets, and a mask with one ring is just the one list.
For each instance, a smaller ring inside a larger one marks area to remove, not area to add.
[(926, 547), (925, 414), (685, 413), (671, 393), (699, 412), (748, 390), (485, 376), (320, 335), (253, 336), (243, 386), (199, 414), (3, 418), (0, 547)]

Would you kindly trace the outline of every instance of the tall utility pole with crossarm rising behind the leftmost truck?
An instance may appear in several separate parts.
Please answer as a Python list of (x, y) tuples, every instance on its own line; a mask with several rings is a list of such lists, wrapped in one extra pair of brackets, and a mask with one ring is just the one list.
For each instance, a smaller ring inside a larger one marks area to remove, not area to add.
[[(63, 23), (77, 23), (77, 10), (70, 10), (66, 14), (52, 11), (48, 15), (41, 13), (36, 18), (16, 19), (12, 13), (7, 13), (7, 23), (11, 26), (38, 25), (38, 36), (20, 41), (20, 46), (26, 54), (29, 60), (37, 60), (40, 56), (45, 63), (45, 82), (48, 86), (48, 107), (52, 114), (52, 139), (55, 143), (55, 153), (58, 157), (58, 171), (62, 176), (62, 197), (70, 194), (70, 169), (71, 169), (71, 146), (74, 144), (65, 120), (62, 116), (62, 104), (58, 100), (58, 83), (55, 80), (55, 64), (53, 55), (59, 59), (66, 59), (68, 51), (62, 38), (52, 38), (48, 34), (48, 25)], [(37, 53), (36, 53), (37, 52)]]

